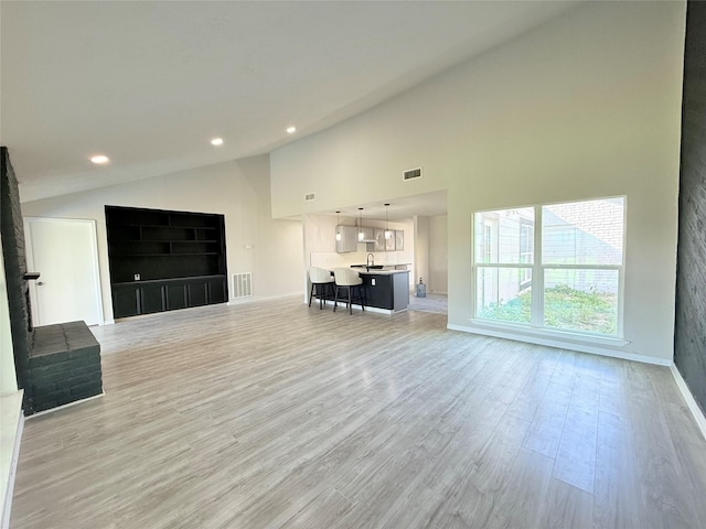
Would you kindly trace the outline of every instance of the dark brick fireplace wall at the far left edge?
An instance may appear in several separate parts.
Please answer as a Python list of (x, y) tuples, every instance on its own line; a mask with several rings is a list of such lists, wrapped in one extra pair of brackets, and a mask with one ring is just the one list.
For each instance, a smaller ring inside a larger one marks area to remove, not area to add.
[(20, 207), (18, 180), (10, 163), (6, 147), (0, 148), (0, 230), (2, 231), (2, 256), (8, 284), (8, 307), (18, 386), (24, 389), (23, 409), (32, 413), (32, 388), (30, 382), (30, 348), (32, 332), (30, 307), (26, 298), (26, 260), (24, 253), (24, 224)]

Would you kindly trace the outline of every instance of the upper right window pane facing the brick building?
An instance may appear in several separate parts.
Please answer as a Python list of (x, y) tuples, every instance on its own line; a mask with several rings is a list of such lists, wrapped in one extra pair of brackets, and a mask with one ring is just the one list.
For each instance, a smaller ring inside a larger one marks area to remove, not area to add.
[(542, 262), (622, 264), (623, 198), (542, 207)]

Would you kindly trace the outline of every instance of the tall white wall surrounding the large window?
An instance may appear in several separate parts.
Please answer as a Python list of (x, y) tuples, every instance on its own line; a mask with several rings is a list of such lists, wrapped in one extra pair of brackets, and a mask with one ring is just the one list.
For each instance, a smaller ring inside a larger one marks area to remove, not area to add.
[(449, 325), (480, 332), (474, 210), (625, 195), (628, 343), (596, 352), (668, 363), (684, 24), (684, 2), (582, 4), (271, 153), (274, 216), (307, 213), (302, 190), (319, 209), (448, 190)]

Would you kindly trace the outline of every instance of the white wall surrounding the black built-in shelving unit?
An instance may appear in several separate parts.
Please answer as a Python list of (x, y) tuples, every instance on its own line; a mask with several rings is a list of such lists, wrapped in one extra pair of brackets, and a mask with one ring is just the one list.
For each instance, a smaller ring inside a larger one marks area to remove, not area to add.
[(22, 204), (25, 216), (96, 220), (104, 315), (110, 321), (105, 205), (224, 214), (228, 276), (253, 272), (254, 299), (303, 290), (301, 223), (272, 220), (267, 155)]

